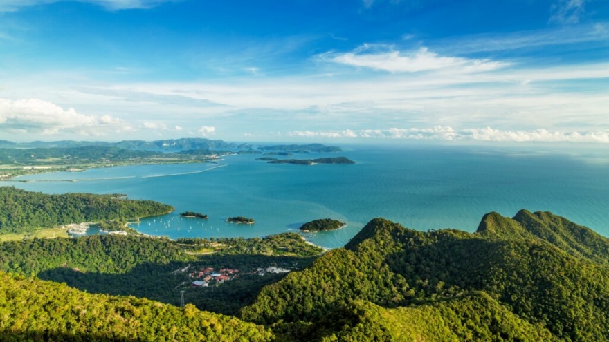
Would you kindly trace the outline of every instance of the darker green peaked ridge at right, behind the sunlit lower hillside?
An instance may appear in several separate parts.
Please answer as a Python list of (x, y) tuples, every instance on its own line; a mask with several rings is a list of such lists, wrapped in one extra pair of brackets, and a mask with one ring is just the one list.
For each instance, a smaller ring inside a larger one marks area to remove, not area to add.
[[(534, 234), (540, 231), (554, 235)], [(576, 234), (586, 237), (579, 241), (588, 256), (577, 254), (576, 245), (564, 245), (566, 250), (556, 245), (557, 237), (573, 241)], [(519, 211), (515, 218), (489, 213), (474, 234), (415, 231), (375, 218), (344, 248), (263, 288), (240, 317), (271, 326), (315, 326), (327, 320), (331, 310), (348, 311), (354, 300), (397, 310), (483, 293), (513, 315), (508, 320), (523, 319), (535, 333), (509, 337), (478, 326), (481, 336), (538, 341), (533, 336), (547, 330), (551, 336), (546, 340), (607, 341), (609, 269), (599, 260), (606, 256), (605, 243), (606, 238), (552, 213)], [(492, 312), (493, 305), (486, 301), (482, 306)], [(362, 315), (355, 321), (370, 313)], [(439, 327), (437, 322), (428, 324)], [(330, 335), (343, 334), (335, 328)], [(453, 329), (457, 334), (461, 328)], [(467, 334), (458, 336), (464, 339)]]

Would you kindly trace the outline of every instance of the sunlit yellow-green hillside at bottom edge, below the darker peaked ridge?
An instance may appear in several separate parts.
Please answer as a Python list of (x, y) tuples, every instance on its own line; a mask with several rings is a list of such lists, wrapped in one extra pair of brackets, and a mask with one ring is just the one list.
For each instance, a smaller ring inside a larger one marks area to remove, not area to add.
[(286, 341), (556, 341), (484, 292), (391, 309), (353, 301), (314, 325), (275, 325), (275, 333)]

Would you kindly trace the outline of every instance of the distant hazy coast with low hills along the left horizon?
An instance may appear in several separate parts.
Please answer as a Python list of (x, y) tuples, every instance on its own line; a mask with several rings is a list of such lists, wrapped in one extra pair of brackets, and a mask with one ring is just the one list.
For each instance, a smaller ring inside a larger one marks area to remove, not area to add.
[[(251, 144), (235, 144), (204, 138), (172, 140), (125, 140), (122, 142), (8, 142), (0, 140), (0, 181), (28, 182), (15, 177), (49, 172), (77, 172), (98, 167), (143, 164), (217, 163), (222, 156), (262, 154), (288, 157), (292, 153), (339, 152), (337, 146), (323, 144), (273, 145), (254, 149)], [(290, 163), (290, 162), (289, 162)], [(291, 162), (318, 164), (319, 160)], [(328, 162), (325, 162), (328, 163)], [(339, 164), (332, 162), (331, 164)], [(340, 163), (343, 164), (343, 163)]]

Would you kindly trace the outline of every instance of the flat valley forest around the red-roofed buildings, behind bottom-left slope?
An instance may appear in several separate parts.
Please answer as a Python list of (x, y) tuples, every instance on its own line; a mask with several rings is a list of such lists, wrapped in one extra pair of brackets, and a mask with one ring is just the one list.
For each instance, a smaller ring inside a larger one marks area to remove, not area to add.
[[(257, 267), (303, 269), (322, 252), (296, 233), (265, 238), (188, 238), (96, 235), (0, 243), (0, 271), (66, 283), (89, 293), (129, 295), (223, 314), (253, 301), (264, 285), (285, 274), (249, 275)], [(187, 268), (237, 268), (242, 276), (219, 287), (190, 287)]]

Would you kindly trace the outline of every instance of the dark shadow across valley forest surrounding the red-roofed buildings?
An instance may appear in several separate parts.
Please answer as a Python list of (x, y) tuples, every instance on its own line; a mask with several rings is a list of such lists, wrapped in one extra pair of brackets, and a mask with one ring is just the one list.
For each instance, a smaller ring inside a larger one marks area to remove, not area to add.
[[(248, 305), (265, 285), (275, 283), (286, 274), (253, 274), (257, 267), (297, 267), (302, 269), (313, 258), (291, 256), (201, 256), (190, 263), (172, 262), (165, 265), (141, 263), (125, 274), (80, 272), (69, 267), (56, 267), (40, 272), (43, 280), (66, 283), (82, 291), (96, 294), (136, 296), (172, 305), (180, 305), (181, 290), (185, 290), (185, 303), (192, 303), (200, 310), (221, 314), (235, 314)], [(188, 272), (176, 272), (190, 264), (190, 272), (201, 267), (239, 269), (239, 276), (217, 287), (194, 288)]]

